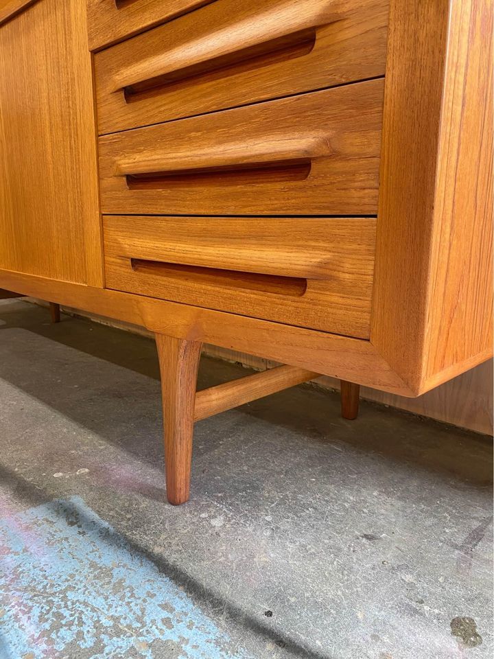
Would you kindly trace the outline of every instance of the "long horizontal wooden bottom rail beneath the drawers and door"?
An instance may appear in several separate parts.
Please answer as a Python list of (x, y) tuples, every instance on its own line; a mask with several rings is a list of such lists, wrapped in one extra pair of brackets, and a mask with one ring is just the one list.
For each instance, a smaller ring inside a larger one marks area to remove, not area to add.
[(368, 341), (8, 270), (0, 270), (0, 286), (61, 305), (77, 304), (158, 334), (201, 340), (376, 389), (418, 393), (408, 389)]

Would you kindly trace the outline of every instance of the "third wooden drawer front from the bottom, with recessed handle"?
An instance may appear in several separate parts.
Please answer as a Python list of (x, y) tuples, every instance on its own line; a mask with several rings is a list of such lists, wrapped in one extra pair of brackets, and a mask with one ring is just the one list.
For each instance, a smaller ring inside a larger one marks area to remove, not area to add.
[(217, 0), (95, 56), (105, 134), (384, 76), (388, 0)]

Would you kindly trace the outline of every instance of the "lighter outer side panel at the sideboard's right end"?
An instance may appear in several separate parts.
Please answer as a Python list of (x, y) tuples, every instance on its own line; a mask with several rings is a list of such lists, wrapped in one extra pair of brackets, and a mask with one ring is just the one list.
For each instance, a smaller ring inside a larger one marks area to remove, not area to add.
[(425, 378), (492, 354), (492, 0), (451, 5)]

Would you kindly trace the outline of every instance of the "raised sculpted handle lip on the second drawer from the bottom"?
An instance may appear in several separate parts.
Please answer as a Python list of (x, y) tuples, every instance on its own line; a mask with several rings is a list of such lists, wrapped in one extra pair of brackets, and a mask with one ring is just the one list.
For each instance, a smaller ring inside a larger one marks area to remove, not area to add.
[(215, 167), (239, 167), (310, 161), (329, 155), (331, 147), (324, 136), (295, 135), (284, 138), (266, 136), (262, 141), (248, 140), (233, 143), (215, 143), (208, 150), (184, 150), (177, 153), (156, 148), (139, 152), (115, 161), (115, 176), (135, 176), (211, 170)]

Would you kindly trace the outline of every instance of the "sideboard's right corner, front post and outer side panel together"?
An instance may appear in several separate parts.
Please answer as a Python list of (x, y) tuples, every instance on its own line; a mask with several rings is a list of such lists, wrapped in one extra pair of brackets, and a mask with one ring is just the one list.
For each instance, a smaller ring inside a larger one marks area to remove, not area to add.
[(371, 342), (419, 391), (492, 355), (491, 12), (390, 3)]

